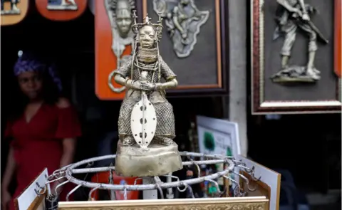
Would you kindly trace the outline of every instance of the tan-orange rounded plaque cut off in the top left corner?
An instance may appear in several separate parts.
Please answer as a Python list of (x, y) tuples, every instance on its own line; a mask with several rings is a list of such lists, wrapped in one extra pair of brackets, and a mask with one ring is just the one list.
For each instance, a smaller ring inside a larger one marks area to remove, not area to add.
[(28, 11), (28, 0), (1, 0), (1, 26), (22, 21)]

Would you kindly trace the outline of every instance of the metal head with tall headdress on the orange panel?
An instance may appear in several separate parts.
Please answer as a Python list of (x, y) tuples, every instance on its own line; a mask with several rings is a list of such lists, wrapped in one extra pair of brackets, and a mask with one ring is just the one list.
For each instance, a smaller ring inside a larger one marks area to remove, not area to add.
[(110, 0), (115, 26), (121, 37), (127, 37), (132, 26), (132, 10), (135, 9), (134, 0)]

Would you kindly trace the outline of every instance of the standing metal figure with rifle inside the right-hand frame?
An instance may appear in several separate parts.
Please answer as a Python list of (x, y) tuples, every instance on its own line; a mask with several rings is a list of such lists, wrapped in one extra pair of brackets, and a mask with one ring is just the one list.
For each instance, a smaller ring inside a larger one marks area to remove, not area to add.
[[(276, 29), (273, 39), (284, 36), (281, 48), (281, 71), (271, 77), (274, 82), (316, 82), (320, 72), (314, 67), (314, 59), (318, 50), (317, 41), (328, 43), (321, 31), (310, 20), (310, 16), (316, 13), (316, 9), (304, 4), (304, 0), (277, 0), (279, 7), (276, 11)], [(296, 41), (297, 29), (300, 29), (309, 37), (309, 59), (306, 66), (289, 65), (291, 49)]]

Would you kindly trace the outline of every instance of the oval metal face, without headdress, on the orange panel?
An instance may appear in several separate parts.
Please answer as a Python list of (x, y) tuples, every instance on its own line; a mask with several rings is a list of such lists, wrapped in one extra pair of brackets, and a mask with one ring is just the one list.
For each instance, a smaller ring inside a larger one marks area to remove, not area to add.
[(127, 1), (118, 1), (115, 23), (118, 26), (120, 36), (127, 36), (132, 26), (131, 11)]

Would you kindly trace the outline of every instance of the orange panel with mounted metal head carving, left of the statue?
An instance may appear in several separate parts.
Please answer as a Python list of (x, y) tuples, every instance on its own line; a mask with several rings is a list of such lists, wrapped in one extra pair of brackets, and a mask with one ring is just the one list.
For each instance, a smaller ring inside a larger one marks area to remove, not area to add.
[(101, 100), (121, 100), (125, 87), (113, 72), (131, 57), (134, 0), (95, 1), (95, 92)]

